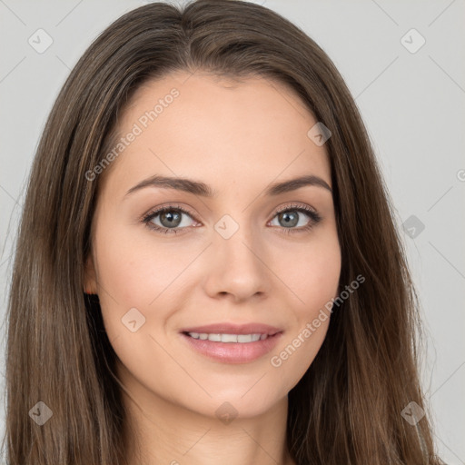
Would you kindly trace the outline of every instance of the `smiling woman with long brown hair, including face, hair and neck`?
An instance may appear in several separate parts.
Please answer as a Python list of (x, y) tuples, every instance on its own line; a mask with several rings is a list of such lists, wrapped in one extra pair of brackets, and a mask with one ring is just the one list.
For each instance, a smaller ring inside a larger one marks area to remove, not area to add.
[(122, 16), (36, 153), (8, 463), (442, 463), (392, 218), (351, 94), (296, 26), (227, 0)]

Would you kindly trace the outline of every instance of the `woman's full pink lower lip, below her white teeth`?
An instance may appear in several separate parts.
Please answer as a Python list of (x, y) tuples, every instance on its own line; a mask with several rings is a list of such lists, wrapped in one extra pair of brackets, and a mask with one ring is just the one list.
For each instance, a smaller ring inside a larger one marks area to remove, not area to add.
[(281, 338), (282, 332), (268, 336), (263, 341), (254, 342), (215, 342), (208, 339), (193, 339), (184, 333), (181, 333), (181, 336), (195, 351), (213, 360), (223, 361), (223, 363), (247, 363), (272, 351)]

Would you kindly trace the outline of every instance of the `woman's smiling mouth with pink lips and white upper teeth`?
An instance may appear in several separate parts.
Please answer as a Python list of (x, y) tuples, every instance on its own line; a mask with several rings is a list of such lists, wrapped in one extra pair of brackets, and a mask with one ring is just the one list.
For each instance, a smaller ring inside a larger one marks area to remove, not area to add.
[[(242, 325), (235, 326), (235, 330), (224, 329), (218, 331), (207, 330), (208, 327), (196, 328), (196, 331), (182, 331), (180, 334), (188, 347), (210, 360), (223, 363), (247, 363), (262, 358), (272, 351), (282, 337), (281, 330), (270, 326)], [(213, 327), (211, 325), (210, 327)], [(248, 329), (248, 328), (252, 328)]]

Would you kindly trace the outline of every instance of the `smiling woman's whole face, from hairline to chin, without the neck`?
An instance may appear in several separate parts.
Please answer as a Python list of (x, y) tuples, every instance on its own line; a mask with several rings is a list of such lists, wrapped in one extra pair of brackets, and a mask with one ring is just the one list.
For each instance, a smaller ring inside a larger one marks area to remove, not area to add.
[[(138, 89), (111, 165), (93, 172), (104, 177), (87, 262), (137, 399), (250, 417), (311, 365), (341, 272), (316, 123), (292, 91), (260, 78), (177, 73)], [(303, 176), (311, 183), (287, 184)], [(200, 328), (224, 324), (242, 327)]]

